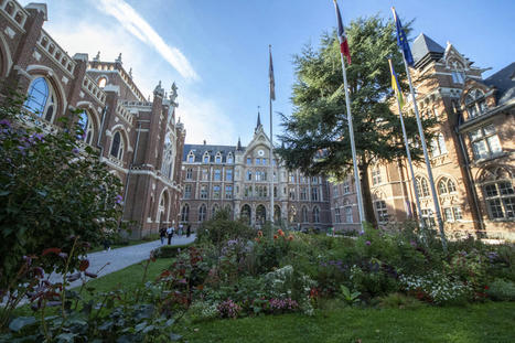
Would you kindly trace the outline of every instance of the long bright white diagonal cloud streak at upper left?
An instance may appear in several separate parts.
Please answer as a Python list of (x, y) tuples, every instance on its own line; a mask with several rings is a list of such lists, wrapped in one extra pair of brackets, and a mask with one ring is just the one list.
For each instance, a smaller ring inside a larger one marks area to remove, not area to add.
[(182, 52), (176, 47), (168, 45), (155, 30), (127, 2), (124, 0), (92, 0), (90, 2), (99, 11), (116, 18), (127, 31), (140, 41), (155, 49), (184, 78), (199, 79), (199, 75)]

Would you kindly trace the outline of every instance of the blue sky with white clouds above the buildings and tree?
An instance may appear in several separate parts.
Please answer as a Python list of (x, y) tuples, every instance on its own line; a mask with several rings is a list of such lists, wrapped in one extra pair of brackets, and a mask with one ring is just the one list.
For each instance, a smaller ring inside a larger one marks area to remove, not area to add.
[[(33, 0), (21, 1), (23, 4)], [(513, 0), (339, 1), (344, 23), (361, 15), (390, 19), (390, 7), (420, 32), (450, 41), (484, 76), (515, 61)], [(71, 55), (101, 52), (150, 95), (159, 81), (179, 86), (178, 114), (186, 142), (246, 144), (257, 106), (268, 130), (268, 44), (276, 72), (273, 109), (290, 114), (292, 56), (335, 25), (331, 0), (49, 0), (45, 30)], [(352, 46), (351, 46), (352, 50)], [(386, 63), (386, 62), (385, 62)], [(275, 116), (275, 133), (280, 131)]]

